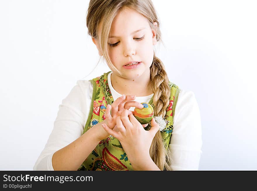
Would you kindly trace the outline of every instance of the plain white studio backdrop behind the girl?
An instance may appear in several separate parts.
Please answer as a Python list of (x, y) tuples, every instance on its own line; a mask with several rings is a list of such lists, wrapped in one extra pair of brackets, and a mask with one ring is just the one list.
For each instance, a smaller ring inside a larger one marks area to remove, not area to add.
[[(0, 170), (32, 170), (58, 106), (110, 71), (87, 34), (89, 1), (0, 1)], [(199, 170), (257, 170), (255, 1), (157, 1), (157, 56), (170, 81), (195, 93)]]

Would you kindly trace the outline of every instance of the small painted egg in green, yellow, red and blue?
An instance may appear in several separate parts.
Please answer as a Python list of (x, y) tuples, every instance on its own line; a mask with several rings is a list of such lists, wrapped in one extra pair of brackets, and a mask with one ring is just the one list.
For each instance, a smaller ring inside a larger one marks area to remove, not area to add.
[(141, 103), (144, 107), (142, 109), (135, 108), (134, 117), (141, 123), (147, 124), (154, 117), (154, 109), (149, 103)]

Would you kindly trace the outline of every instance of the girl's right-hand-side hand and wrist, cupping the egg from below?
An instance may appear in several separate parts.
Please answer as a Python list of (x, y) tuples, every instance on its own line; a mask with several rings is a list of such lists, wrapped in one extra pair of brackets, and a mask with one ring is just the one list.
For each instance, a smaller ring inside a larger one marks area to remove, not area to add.
[(102, 126), (107, 133), (120, 141), (134, 168), (143, 165), (145, 160), (152, 160), (149, 153), (150, 146), (160, 126), (155, 122), (154, 118), (151, 120), (151, 125), (151, 129), (146, 131), (133, 114), (125, 109), (117, 117), (116, 128), (118, 131), (114, 131), (106, 124)]

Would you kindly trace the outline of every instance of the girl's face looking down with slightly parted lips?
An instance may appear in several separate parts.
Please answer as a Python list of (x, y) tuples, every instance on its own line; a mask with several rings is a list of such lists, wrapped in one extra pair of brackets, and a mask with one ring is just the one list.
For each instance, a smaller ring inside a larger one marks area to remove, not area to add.
[[(157, 23), (154, 22), (157, 26)], [(157, 43), (156, 33), (150, 28), (147, 18), (140, 13), (124, 8), (112, 22), (108, 38), (109, 56), (113, 65), (125, 75), (136, 78), (142, 74), (149, 76), (153, 61), (153, 45)], [(129, 69), (126, 63), (141, 62)]]

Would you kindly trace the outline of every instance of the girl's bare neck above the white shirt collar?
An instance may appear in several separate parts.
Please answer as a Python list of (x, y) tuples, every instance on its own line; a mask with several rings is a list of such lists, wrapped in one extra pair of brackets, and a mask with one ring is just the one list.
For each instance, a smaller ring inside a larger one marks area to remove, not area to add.
[(150, 70), (145, 73), (135, 79), (122, 78), (112, 73), (112, 87), (119, 94), (136, 95), (136, 97), (151, 95), (153, 93), (152, 89), (147, 86), (147, 83), (150, 81)]

